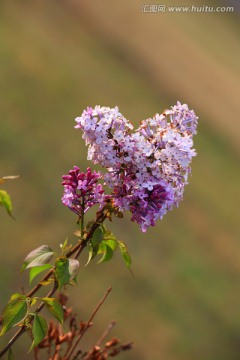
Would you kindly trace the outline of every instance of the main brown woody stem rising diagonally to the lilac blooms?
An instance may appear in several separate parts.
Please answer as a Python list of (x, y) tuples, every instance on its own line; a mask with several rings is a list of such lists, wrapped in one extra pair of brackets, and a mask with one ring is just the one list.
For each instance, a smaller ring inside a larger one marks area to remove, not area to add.
[[(92, 238), (94, 231), (104, 222), (104, 220), (107, 218), (107, 214), (105, 213), (105, 207), (97, 213), (96, 220), (93, 223), (91, 229), (86, 234), (85, 239), (82, 239), (80, 243), (76, 244), (67, 254), (66, 257), (70, 258), (73, 254), (75, 254), (74, 259), (77, 259), (78, 256), (82, 253), (83, 249), (86, 247), (88, 241)], [(43, 286), (41, 282), (48, 280), (51, 275), (53, 274), (55, 268), (48, 271), (48, 273), (38, 282), (38, 284), (28, 292), (26, 295), (27, 297), (32, 297), (36, 292)], [(57, 282), (54, 282), (53, 288), (48, 293), (47, 297), (51, 297), (55, 291), (57, 290)], [(39, 313), (42, 308), (44, 307), (44, 303), (42, 302), (39, 307), (36, 310), (36, 313)], [(33, 318), (30, 318), (30, 321), (32, 321)], [(10, 349), (10, 347), (16, 342), (16, 340), (27, 330), (27, 327), (23, 325), (20, 330), (18, 330), (15, 335), (12, 337), (12, 339), (8, 342), (8, 344), (3, 348), (3, 350), (0, 352), (0, 358)]]

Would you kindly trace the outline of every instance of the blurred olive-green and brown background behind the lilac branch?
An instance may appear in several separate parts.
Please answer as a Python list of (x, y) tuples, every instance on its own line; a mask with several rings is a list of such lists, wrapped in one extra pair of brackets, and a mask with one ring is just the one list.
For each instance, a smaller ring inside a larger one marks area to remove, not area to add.
[[(86, 320), (113, 286), (84, 348), (114, 319), (113, 335), (134, 342), (122, 360), (239, 360), (239, 13), (141, 12), (153, 3), (0, 2), (0, 175), (21, 174), (4, 186), (16, 221), (0, 209), (0, 307), (27, 288), (19, 268), (30, 250), (75, 240), (61, 176), (89, 164), (74, 118), (118, 105), (137, 126), (179, 100), (199, 116), (184, 201), (146, 234), (129, 216), (109, 223), (129, 247), (134, 278), (116, 255), (83, 268), (68, 293)], [(33, 357), (29, 346), (25, 335), (17, 359)]]

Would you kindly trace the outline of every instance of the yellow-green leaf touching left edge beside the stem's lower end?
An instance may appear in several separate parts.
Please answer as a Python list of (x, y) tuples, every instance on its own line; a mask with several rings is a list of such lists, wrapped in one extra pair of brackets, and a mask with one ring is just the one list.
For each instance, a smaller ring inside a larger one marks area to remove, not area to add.
[(2, 314), (2, 330), (0, 336), (13, 326), (22, 322), (28, 314), (29, 299), (22, 294), (13, 294)]

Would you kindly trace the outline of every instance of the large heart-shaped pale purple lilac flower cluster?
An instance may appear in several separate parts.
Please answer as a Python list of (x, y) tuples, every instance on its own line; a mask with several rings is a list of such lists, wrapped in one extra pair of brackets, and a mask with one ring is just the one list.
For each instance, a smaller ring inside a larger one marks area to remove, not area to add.
[(186, 104), (143, 120), (134, 132), (117, 107), (87, 108), (76, 122), (88, 159), (107, 170), (102, 177), (115, 206), (129, 210), (142, 231), (178, 206), (196, 155), (197, 117)]

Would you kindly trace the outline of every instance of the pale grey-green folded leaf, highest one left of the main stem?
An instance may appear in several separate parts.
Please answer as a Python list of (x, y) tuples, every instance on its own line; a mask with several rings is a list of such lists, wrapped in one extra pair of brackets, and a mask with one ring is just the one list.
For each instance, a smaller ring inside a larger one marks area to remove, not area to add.
[(42, 245), (37, 249), (31, 251), (25, 258), (21, 271), (35, 266), (42, 266), (47, 264), (53, 256), (52, 249), (47, 245)]

